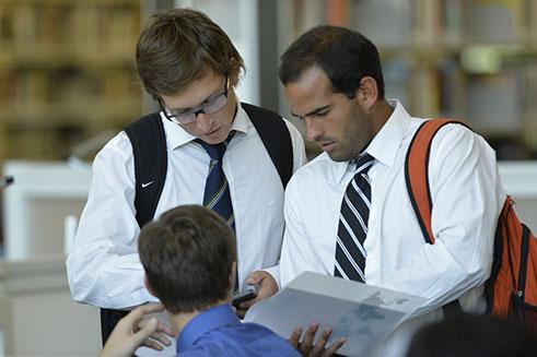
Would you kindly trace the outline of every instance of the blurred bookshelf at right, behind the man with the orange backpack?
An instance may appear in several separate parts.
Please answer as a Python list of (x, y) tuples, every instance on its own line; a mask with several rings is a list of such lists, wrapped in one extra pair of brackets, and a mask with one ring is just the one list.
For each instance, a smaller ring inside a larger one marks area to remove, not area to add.
[(294, 38), (320, 23), (367, 36), (386, 96), (412, 115), (466, 121), (500, 159), (537, 158), (537, 1), (295, 0), (287, 12)]

